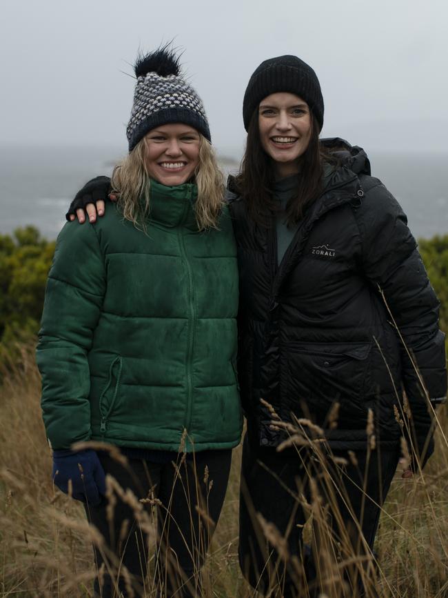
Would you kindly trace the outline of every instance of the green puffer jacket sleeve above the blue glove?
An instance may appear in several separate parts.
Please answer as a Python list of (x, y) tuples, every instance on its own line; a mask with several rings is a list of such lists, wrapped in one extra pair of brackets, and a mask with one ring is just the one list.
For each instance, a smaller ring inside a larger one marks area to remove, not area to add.
[(90, 439), (88, 351), (105, 293), (105, 266), (93, 226), (61, 231), (45, 290), (37, 346), (41, 407), (52, 448)]

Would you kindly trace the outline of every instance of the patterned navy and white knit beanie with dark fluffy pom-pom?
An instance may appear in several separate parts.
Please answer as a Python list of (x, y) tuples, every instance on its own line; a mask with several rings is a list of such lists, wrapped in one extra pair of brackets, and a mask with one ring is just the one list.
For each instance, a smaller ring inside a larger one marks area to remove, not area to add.
[(179, 57), (169, 44), (139, 57), (134, 71), (134, 105), (126, 129), (129, 151), (147, 132), (169, 123), (190, 125), (211, 141), (201, 98), (183, 78)]

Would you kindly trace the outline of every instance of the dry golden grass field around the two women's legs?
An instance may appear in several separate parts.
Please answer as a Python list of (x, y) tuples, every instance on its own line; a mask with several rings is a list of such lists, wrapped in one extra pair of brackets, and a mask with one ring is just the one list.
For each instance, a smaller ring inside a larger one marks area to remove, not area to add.
[[(21, 363), (10, 368), (0, 388), (0, 596), (89, 597), (94, 577), (91, 541), (96, 538), (85, 522), (83, 508), (52, 486), (39, 399), (34, 352), (23, 348)], [(442, 434), (447, 430), (445, 410), (438, 416), (437, 450), (425, 475), (403, 480), (398, 472), (383, 510), (376, 542), (376, 590), (384, 598), (448, 596), (448, 446)], [(254, 596), (241, 576), (237, 559), (240, 460), (238, 448), (203, 571), (207, 598)], [(319, 512), (318, 497), (309, 508), (315, 528), (325, 534), (325, 514)], [(282, 538), (276, 530), (268, 521), (261, 524), (272, 544), (277, 543), (281, 550)], [(308, 524), (305, 537), (311, 538)], [(343, 595), (343, 581), (338, 578), (338, 562), (325, 560), (330, 552), (322, 552), (325, 587), (329, 598), (338, 598)], [(356, 559), (354, 563), (356, 567)], [(278, 589), (272, 590), (273, 597), (281, 595)], [(150, 584), (147, 597), (153, 596), (155, 588)]]

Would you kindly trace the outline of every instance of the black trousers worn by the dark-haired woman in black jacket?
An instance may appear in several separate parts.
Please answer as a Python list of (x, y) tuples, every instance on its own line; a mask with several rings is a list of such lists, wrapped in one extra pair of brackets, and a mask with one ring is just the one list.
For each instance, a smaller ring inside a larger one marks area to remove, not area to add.
[[(371, 551), (399, 456), (398, 448), (276, 452), (250, 446), (246, 435), (239, 560), (247, 581), (265, 594), (276, 588), (272, 596), (313, 597), (325, 583), (340, 597), (376, 595)], [(304, 548), (311, 514), (312, 547)], [(325, 581), (336, 570), (338, 579)]]

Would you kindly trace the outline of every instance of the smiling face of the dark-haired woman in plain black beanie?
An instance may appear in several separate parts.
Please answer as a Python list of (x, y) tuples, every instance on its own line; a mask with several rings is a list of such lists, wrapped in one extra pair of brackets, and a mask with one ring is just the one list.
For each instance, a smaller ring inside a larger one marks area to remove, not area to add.
[(312, 132), (312, 116), (305, 100), (287, 92), (265, 97), (258, 106), (258, 129), (263, 150), (274, 160), (278, 177), (298, 172)]

